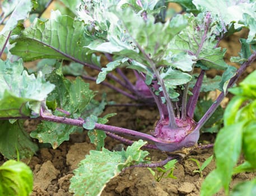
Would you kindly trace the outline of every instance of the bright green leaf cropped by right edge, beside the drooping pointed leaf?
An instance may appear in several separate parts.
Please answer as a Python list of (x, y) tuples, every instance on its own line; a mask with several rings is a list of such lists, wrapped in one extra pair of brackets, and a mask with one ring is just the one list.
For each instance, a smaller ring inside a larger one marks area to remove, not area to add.
[[(254, 114), (255, 118), (255, 114)], [(243, 152), (245, 158), (250, 164), (256, 168), (256, 118), (251, 120), (249, 124), (244, 127), (243, 133)]]

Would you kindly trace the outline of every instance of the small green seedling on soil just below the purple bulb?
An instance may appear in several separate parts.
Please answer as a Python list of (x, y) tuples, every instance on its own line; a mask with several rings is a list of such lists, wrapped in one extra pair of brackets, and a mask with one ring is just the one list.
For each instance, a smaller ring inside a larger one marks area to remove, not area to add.
[(171, 160), (167, 162), (166, 165), (162, 166), (163, 168), (156, 167), (155, 169), (156, 171), (151, 169), (150, 167), (147, 167), (147, 169), (151, 172), (151, 174), (154, 176), (157, 182), (159, 182), (163, 177), (177, 179), (176, 176), (173, 175), (174, 169), (176, 168), (175, 167), (176, 162), (178, 162), (176, 159)]

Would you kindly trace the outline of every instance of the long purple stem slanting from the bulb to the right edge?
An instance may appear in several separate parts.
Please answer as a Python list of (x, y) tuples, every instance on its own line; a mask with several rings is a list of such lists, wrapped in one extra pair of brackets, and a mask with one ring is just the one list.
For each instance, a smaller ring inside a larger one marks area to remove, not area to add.
[[(241, 74), (245, 71), (245, 69), (250, 64), (252, 64), (254, 62), (255, 59), (256, 59), (256, 51), (254, 51), (254, 53), (252, 55), (250, 55), (248, 60), (241, 65), (241, 67), (238, 69), (238, 71), (236, 71), (236, 75), (230, 79), (229, 84), (227, 85), (227, 88), (234, 86), (235, 82), (238, 80), (238, 78), (241, 76)], [(227, 94), (227, 92), (226, 92), (226, 94)], [(202, 116), (202, 118), (197, 123), (197, 127), (195, 128), (195, 131), (199, 130), (203, 127), (203, 125), (207, 122), (207, 120), (211, 117), (211, 115), (218, 108), (218, 106), (220, 105), (221, 101), (224, 99), (226, 94), (224, 93), (224, 91), (222, 91), (221, 94), (218, 95), (216, 101), (213, 102), (211, 107), (206, 111), (206, 113)]]

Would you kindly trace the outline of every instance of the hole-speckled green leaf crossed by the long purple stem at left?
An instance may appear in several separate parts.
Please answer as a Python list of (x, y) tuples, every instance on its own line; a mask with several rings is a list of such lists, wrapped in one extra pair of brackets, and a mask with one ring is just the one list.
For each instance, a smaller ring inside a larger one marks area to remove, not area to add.
[[(54, 91), (48, 96), (47, 101), (56, 101), (57, 108), (70, 113), (69, 118), (79, 118), (83, 110), (90, 103), (94, 92), (89, 89), (89, 84), (77, 77), (75, 81), (69, 81), (63, 77), (61, 68), (54, 69), (50, 82), (56, 85)], [(55, 110), (54, 115), (66, 117), (66, 114)], [(57, 148), (63, 141), (68, 141), (69, 134), (76, 131), (75, 126), (42, 122), (38, 128), (30, 133), (32, 138), (39, 139), (39, 142), (50, 143), (53, 148)]]

